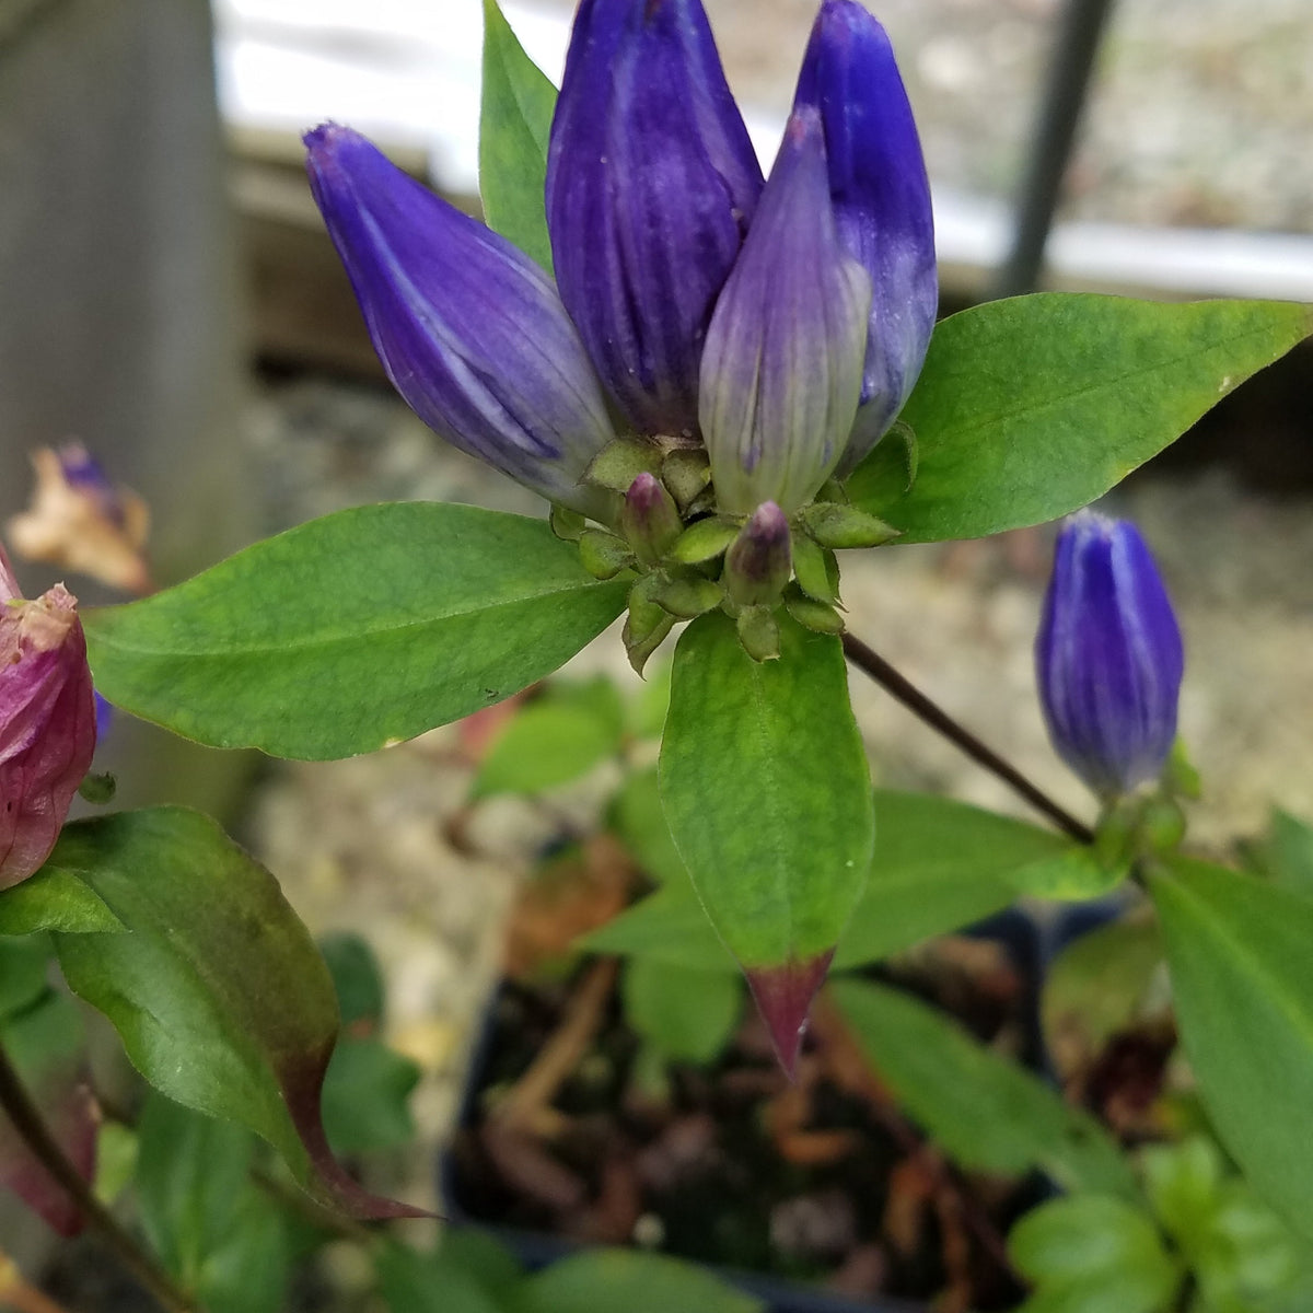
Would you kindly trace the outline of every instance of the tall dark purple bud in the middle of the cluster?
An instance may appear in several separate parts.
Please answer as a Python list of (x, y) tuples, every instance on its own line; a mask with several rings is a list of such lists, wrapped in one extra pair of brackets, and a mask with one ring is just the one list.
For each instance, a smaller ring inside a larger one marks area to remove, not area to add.
[(583, 0), (548, 155), (561, 297), (635, 429), (696, 432), (762, 169), (700, 0)]

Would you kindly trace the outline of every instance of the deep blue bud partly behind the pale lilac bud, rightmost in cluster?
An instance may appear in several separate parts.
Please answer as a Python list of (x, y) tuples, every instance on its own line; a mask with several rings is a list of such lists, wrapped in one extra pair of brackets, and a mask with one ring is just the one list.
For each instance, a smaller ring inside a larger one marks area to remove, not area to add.
[(939, 303), (930, 184), (885, 29), (857, 0), (825, 0), (794, 108), (825, 129), (839, 238), (871, 277), (861, 406), (836, 473), (848, 474), (911, 393)]

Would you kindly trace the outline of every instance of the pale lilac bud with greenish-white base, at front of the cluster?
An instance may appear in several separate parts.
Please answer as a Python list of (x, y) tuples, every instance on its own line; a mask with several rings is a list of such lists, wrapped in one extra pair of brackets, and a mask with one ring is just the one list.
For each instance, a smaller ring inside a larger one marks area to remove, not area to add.
[(835, 227), (821, 117), (789, 119), (702, 352), (700, 416), (721, 511), (805, 506), (861, 393), (871, 280)]

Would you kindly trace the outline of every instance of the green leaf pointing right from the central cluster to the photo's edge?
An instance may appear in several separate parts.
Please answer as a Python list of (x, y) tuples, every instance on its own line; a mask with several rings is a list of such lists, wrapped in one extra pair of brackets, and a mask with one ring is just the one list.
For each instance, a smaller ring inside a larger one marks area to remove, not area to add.
[(935, 330), (902, 419), (916, 477), (881, 442), (848, 482), (899, 542), (978, 538), (1086, 506), (1313, 332), (1280, 301), (1165, 305), (1043, 293)]

